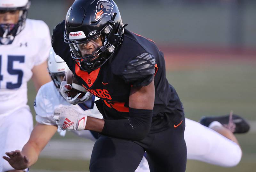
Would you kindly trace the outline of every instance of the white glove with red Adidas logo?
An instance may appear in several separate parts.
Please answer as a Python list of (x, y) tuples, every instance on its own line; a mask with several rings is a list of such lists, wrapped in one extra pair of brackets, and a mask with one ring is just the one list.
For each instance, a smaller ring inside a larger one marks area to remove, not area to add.
[(87, 115), (71, 107), (61, 107), (54, 109), (53, 119), (61, 130), (84, 130)]

